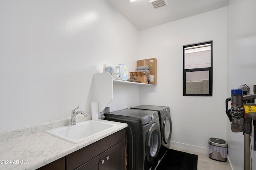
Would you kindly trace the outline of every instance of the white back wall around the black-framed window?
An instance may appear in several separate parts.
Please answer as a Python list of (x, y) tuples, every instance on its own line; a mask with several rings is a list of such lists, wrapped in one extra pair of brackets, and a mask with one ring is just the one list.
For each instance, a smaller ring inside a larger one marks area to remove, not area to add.
[[(171, 146), (208, 152), (208, 139), (226, 140), (226, 7), (140, 31), (140, 59), (158, 60), (158, 83), (140, 87), (140, 104), (169, 106)], [(182, 96), (183, 45), (213, 41), (212, 97)]]

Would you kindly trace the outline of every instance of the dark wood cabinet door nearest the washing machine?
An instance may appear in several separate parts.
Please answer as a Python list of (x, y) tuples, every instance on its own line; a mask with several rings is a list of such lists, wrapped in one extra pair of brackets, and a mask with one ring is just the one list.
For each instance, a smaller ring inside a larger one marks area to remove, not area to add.
[(104, 170), (125, 170), (125, 140), (104, 152)]

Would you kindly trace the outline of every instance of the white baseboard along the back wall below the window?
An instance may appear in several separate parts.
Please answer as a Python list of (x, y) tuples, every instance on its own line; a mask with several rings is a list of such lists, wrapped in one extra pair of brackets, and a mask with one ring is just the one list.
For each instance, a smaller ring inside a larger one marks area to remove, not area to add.
[(193, 152), (208, 154), (208, 148), (198, 147), (198, 146), (195, 146), (195, 145), (189, 145), (189, 144), (186, 144), (186, 143), (170, 141), (170, 147), (182, 148), (184, 150), (190, 150), (190, 151), (193, 151)]

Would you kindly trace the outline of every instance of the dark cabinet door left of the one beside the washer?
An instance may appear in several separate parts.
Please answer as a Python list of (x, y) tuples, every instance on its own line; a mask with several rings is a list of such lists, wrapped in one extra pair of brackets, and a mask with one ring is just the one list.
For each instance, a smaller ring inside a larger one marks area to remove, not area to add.
[(104, 170), (104, 153), (96, 156), (92, 160), (86, 162), (76, 170)]

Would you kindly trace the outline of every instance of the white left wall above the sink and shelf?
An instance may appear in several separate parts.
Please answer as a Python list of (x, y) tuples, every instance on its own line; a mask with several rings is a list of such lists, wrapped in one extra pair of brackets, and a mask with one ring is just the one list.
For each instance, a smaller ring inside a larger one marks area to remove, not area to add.
[(105, 0), (0, 1), (0, 16), (0, 132), (90, 113), (94, 73), (135, 69), (139, 32)]

